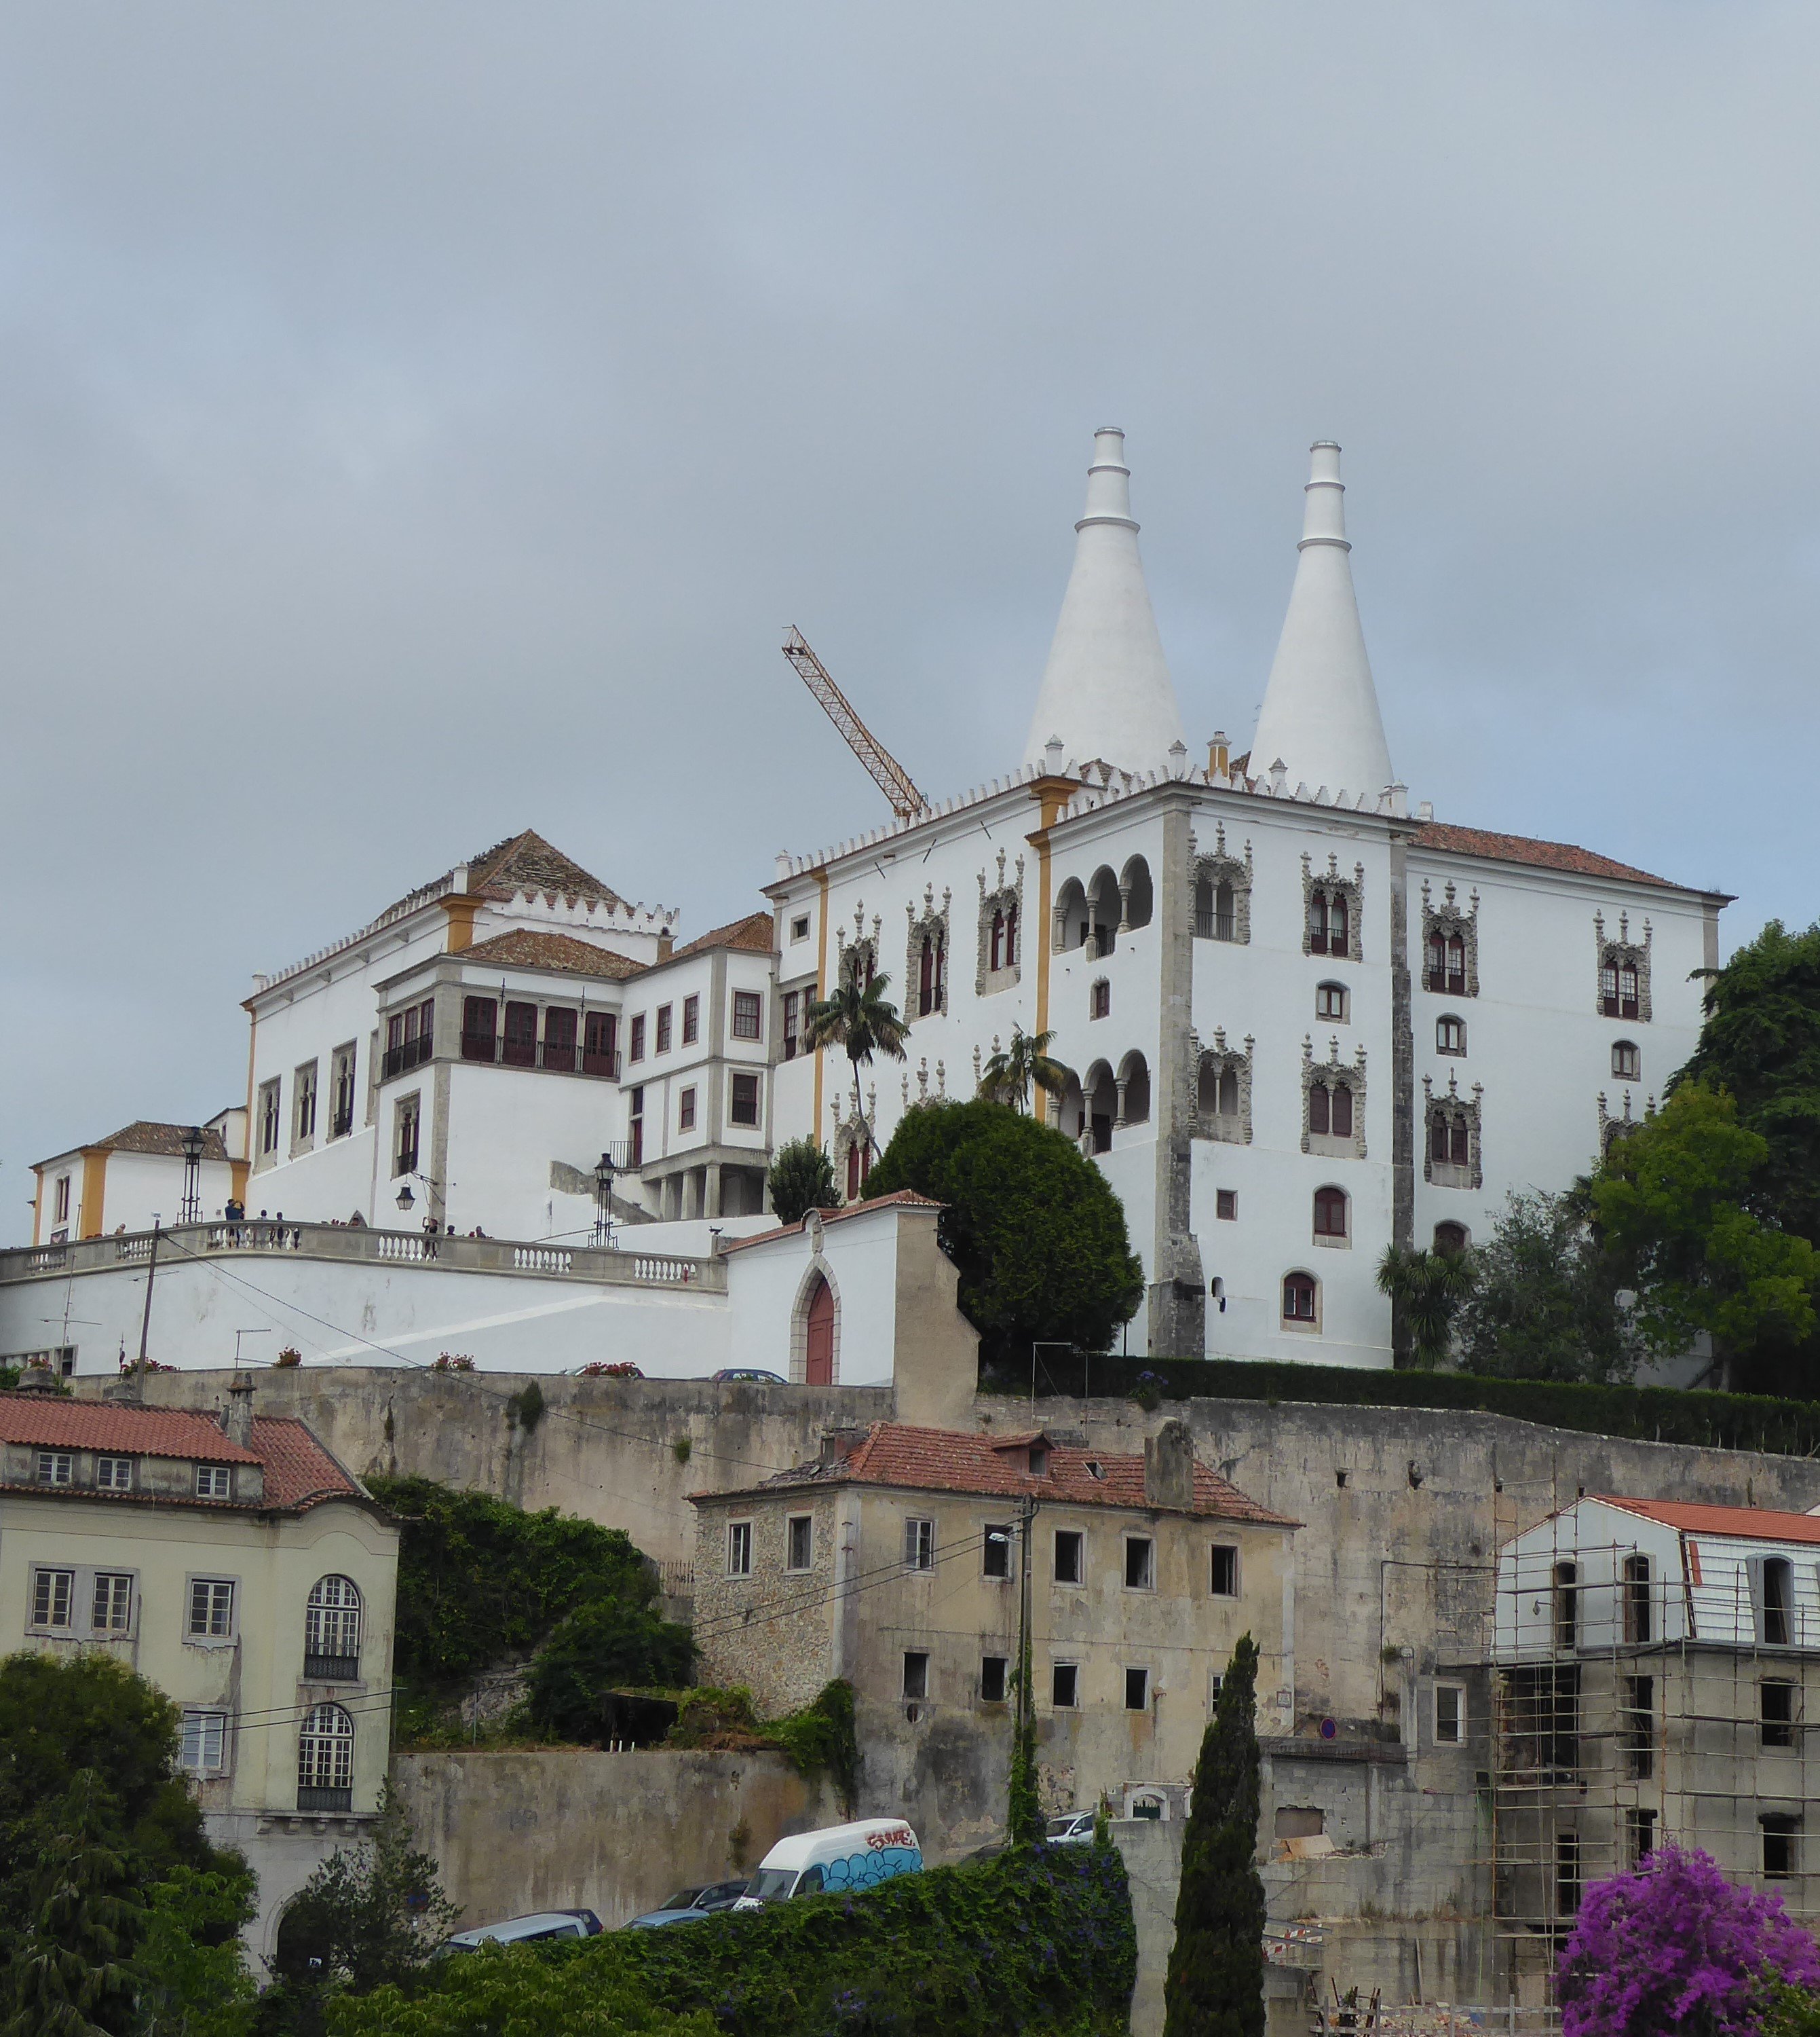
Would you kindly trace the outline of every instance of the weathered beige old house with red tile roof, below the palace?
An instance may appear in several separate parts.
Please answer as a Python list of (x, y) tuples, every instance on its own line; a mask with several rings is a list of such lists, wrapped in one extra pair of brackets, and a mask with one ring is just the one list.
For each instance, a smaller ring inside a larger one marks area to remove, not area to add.
[(1289, 1729), (1297, 1522), (1197, 1463), (1181, 1422), (1142, 1456), (875, 1422), (694, 1505), (702, 1681), (778, 1715), (845, 1676), (861, 1809), (945, 1854), (1004, 1823), (1022, 1619), (1050, 1809), (1179, 1807), (1246, 1632), (1260, 1727)]

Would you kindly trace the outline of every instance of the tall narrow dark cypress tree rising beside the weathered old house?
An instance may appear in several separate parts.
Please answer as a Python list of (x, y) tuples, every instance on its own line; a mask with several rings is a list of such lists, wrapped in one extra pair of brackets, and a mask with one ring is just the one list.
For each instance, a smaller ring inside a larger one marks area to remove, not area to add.
[(1264, 2037), (1256, 1685), (1258, 1648), (1246, 1634), (1195, 1762), (1162, 2037)]

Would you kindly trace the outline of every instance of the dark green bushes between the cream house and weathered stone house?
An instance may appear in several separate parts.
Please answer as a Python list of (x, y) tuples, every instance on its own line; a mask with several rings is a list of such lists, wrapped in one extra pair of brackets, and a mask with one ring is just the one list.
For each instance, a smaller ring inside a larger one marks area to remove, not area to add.
[(434, 1479), (366, 1483), (405, 1524), (395, 1664), (417, 1689), (448, 1689), (529, 1654), (582, 1605), (641, 1611), (658, 1597), (645, 1558), (619, 1528), (556, 1507), (525, 1513)]

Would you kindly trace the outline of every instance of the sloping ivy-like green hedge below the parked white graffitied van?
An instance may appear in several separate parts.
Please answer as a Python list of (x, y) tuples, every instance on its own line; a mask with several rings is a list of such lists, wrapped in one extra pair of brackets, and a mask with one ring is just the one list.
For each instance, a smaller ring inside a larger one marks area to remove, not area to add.
[(863, 1894), (452, 1956), (411, 1998), (336, 2002), (330, 2033), (1122, 2037), (1136, 1960), (1120, 1856), (1030, 1848)]

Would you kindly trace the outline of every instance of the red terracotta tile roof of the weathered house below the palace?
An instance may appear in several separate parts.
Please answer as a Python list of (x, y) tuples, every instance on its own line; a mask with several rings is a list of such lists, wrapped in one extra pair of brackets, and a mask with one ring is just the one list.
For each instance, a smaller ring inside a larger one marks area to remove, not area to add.
[[(1069, 1505), (1148, 1509), (1144, 1499), (1144, 1458), (1110, 1456), (1071, 1444), (1048, 1446), (1048, 1469), (1028, 1469), (1028, 1448), (1038, 1430), (998, 1436), (991, 1430), (910, 1428), (904, 1422), (873, 1422), (865, 1436), (833, 1465), (812, 1461), (782, 1471), (749, 1491), (792, 1485), (892, 1485), (920, 1493), (979, 1493), (991, 1499), (1055, 1499)], [(1089, 1471), (1097, 1465), (1097, 1475)], [(743, 1497), (735, 1493), (692, 1493), (692, 1499)], [(1248, 1499), (1217, 1471), (1195, 1463), (1197, 1516), (1297, 1528), (1287, 1513), (1272, 1513)]]

